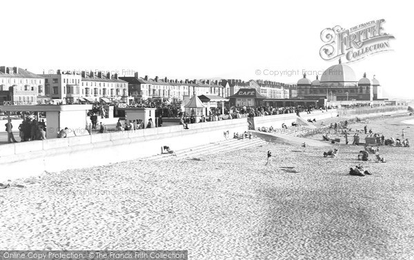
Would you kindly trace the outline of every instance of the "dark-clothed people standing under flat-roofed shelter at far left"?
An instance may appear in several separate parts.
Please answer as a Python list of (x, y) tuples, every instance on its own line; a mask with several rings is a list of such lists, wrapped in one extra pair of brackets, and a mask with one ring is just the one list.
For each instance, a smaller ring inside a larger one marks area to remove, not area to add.
[[(8, 142), (17, 142), (13, 135), (12, 120), (8, 119), (8, 122), (4, 126), (8, 133)], [(36, 119), (28, 116), (19, 124), (18, 129), (21, 142), (46, 139), (46, 122), (44, 119), (38, 122)]]

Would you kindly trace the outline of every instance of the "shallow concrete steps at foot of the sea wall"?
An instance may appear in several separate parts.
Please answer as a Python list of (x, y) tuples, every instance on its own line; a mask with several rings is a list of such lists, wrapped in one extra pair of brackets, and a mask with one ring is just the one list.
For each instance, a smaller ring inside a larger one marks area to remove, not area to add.
[(160, 155), (155, 155), (148, 158), (142, 158), (140, 160), (146, 161), (161, 161), (169, 159), (183, 159), (190, 157), (199, 157), (201, 155), (208, 155), (213, 153), (224, 153), (227, 151), (234, 151), (236, 149), (244, 149), (248, 147), (257, 147), (259, 145), (266, 144), (266, 141), (260, 138), (253, 139), (230, 139), (223, 140), (221, 142), (215, 142), (211, 144), (205, 144), (198, 147), (193, 147), (190, 149), (176, 150), (175, 153), (177, 156), (172, 155), (171, 153), (164, 153)]

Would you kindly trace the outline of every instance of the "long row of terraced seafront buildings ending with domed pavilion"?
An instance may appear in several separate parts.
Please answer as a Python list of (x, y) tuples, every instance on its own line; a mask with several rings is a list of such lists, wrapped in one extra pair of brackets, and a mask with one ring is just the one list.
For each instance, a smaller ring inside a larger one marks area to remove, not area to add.
[[(155, 76), (118, 76), (98, 70), (90, 72), (61, 72), (33, 74), (19, 67), (0, 67), (0, 101), (13, 104), (81, 104), (92, 102), (125, 103), (146, 101), (182, 102), (186, 96), (219, 96), (229, 98), (240, 89), (255, 89), (269, 100), (382, 100), (382, 86), (366, 74), (357, 80), (348, 65), (328, 67), (320, 80), (301, 78), (297, 84), (270, 80), (178, 80)], [(246, 101), (247, 102), (247, 101)], [(275, 103), (273, 104), (275, 105)]]

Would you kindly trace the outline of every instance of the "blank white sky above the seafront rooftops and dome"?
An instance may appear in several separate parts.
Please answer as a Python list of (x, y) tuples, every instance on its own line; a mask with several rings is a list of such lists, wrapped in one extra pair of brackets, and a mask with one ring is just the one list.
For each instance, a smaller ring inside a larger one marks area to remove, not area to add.
[(0, 14), (3, 66), (282, 83), (338, 63), (319, 55), (325, 28), (385, 19), (393, 51), (348, 65), (414, 99), (411, 6), (397, 1), (5, 1)]

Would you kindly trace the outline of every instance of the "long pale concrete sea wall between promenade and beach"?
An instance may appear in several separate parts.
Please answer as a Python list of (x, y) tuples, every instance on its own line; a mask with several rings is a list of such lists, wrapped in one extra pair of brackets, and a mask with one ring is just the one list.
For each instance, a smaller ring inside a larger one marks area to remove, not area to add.
[(57, 138), (3, 144), (0, 146), (0, 180), (39, 175), (145, 158), (161, 152), (161, 147), (188, 149), (224, 140), (248, 129), (246, 118), (101, 133), (90, 136)]

